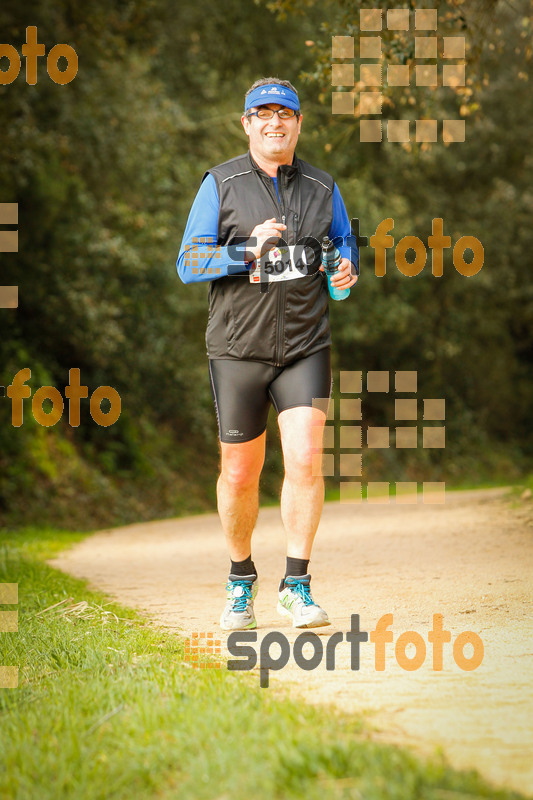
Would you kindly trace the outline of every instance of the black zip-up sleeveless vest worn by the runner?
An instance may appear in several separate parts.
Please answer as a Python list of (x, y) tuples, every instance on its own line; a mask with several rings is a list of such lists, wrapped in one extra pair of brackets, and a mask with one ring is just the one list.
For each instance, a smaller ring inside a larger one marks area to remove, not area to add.
[[(250, 153), (210, 169), (216, 181), (220, 210), (217, 244), (235, 245), (236, 262), (256, 225), (276, 217), (287, 226), (286, 244), (312, 237), (321, 242), (333, 219), (334, 181), (327, 172), (294, 158), (278, 167), (276, 195), (272, 179)], [(275, 366), (328, 347), (331, 343), (328, 290), (315, 260), (310, 274), (270, 283), (268, 291), (250, 283), (247, 270), (212, 281), (206, 332), (209, 358), (264, 361)]]

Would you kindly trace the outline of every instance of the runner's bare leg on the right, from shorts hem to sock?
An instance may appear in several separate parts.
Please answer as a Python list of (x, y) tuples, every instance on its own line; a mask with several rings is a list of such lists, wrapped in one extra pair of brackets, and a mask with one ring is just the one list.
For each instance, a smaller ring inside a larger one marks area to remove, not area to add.
[(316, 464), (313, 469), (313, 454), (322, 452), (325, 419), (322, 411), (306, 406), (289, 408), (278, 417), (285, 462), (281, 518), (287, 533), (287, 555), (292, 558), (311, 557), (320, 522), (324, 479)]

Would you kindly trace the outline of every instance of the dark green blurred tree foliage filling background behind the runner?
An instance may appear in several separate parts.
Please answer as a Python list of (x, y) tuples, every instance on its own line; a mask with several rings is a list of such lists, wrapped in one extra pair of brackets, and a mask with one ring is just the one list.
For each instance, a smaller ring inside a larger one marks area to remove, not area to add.
[[(0, 86), (0, 201), (18, 203), (20, 239), (18, 255), (0, 256), (2, 284), (18, 285), (20, 298), (16, 312), (0, 310), (0, 383), (29, 367), (32, 394), (46, 385), (64, 394), (76, 367), (89, 395), (102, 385), (119, 392), (122, 414), (100, 428), (83, 400), (79, 428), (65, 409), (45, 430), (25, 400), (15, 429), (0, 402), (0, 518), (83, 527), (212, 507), (206, 287), (183, 286), (175, 260), (204, 171), (246, 148), (241, 101), (261, 74), (300, 79), (299, 154), (335, 176), (363, 234), (390, 216), (396, 243), (427, 241), (442, 217), (452, 243), (469, 234), (485, 248), (483, 270), (468, 279), (450, 251), (443, 278), (429, 265), (405, 278), (389, 252), (378, 279), (364, 250), (353, 297), (332, 308), (337, 369), (417, 369), (419, 396), (446, 396), (444, 457), (428, 464), (419, 452), (415, 463), (406, 453), (395, 469), (462, 479), (522, 468), (533, 444), (531, 23), (526, 4), (446, 9), (450, 31), (466, 24), (470, 82), (415, 104), (467, 115), (467, 139), (402, 147), (361, 144), (356, 121), (330, 113), (331, 35), (357, 33), (359, 5), (2, 4), (5, 41), (20, 52), (36, 25), (47, 52), (58, 42), (76, 49), (79, 71), (59, 86), (40, 58), (36, 85), (23, 65)], [(386, 58), (408, 59), (407, 44), (388, 36)], [(409, 93), (390, 95), (385, 115), (414, 113)], [(375, 398), (367, 408), (369, 419), (388, 419)], [(374, 477), (390, 467), (375, 459)], [(266, 498), (281, 474), (273, 451)]]

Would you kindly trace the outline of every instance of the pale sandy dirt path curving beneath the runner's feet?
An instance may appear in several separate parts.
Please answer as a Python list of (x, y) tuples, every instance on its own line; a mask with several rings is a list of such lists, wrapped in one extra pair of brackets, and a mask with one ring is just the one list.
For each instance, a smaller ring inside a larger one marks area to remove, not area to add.
[[(254, 560), (259, 640), (279, 630), (292, 642), (298, 631), (275, 610), (284, 568), (278, 508), (260, 512)], [(218, 619), (227, 559), (215, 514), (102, 531), (50, 563), (163, 626), (185, 635), (214, 631), (226, 640)], [(291, 657), (271, 672), (271, 687), (292, 681), (310, 702), (363, 712), (383, 740), (422, 753), (441, 748), (455, 767), (533, 793), (533, 529), (509, 510), (501, 490), (449, 493), (442, 506), (328, 504), (311, 571), (315, 598), (333, 623), (316, 631), (324, 645), (334, 631), (350, 629), (351, 614), (360, 614), (365, 631), (383, 614), (394, 615), (385, 671), (374, 669), (370, 642), (361, 645), (360, 670), (352, 671), (344, 641), (334, 671), (326, 672), (324, 658), (303, 672)], [(459, 669), (447, 644), (442, 672), (433, 671), (427, 634), (434, 613), (444, 615), (452, 642), (465, 630), (479, 634), (479, 668)], [(409, 630), (427, 644), (424, 664), (411, 672), (394, 654), (398, 636)], [(278, 652), (273, 647), (272, 655)]]

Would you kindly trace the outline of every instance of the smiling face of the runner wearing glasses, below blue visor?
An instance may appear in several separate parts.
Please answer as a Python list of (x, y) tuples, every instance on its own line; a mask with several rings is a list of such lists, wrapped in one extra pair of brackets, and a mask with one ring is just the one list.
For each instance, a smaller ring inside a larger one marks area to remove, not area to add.
[[(274, 111), (283, 108), (278, 103), (268, 103), (266, 108)], [(251, 108), (250, 111), (257, 111)], [(250, 153), (254, 161), (267, 173), (276, 169), (281, 164), (292, 164), (296, 142), (302, 127), (302, 115), (290, 119), (280, 119), (274, 114), (272, 119), (259, 119), (259, 117), (241, 117), (243, 128), (250, 140)]]

